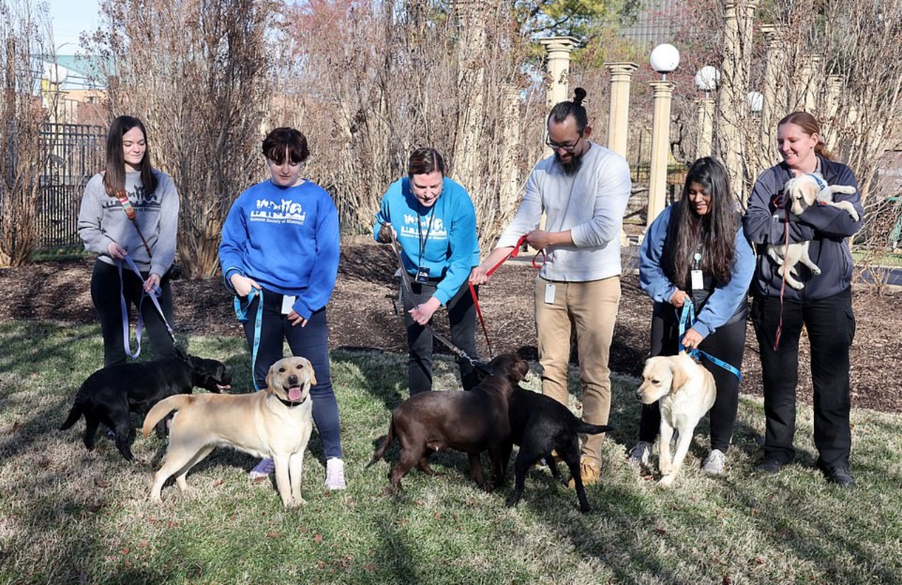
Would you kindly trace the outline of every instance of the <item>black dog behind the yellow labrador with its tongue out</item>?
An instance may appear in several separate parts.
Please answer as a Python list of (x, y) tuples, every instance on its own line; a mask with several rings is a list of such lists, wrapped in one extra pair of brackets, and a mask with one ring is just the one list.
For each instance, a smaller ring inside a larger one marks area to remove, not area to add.
[[(75, 404), (60, 431), (68, 429), (84, 414), (85, 447), (92, 450), (97, 427), (103, 422), (115, 433), (116, 448), (131, 461), (134, 457), (129, 441), (134, 432), (130, 413), (143, 416), (163, 398), (191, 394), (195, 386), (219, 393), (231, 387), (231, 383), (232, 376), (222, 362), (190, 356), (180, 349), (170, 357), (104, 367), (87, 376), (78, 388)], [(157, 432), (165, 432), (165, 421)]]

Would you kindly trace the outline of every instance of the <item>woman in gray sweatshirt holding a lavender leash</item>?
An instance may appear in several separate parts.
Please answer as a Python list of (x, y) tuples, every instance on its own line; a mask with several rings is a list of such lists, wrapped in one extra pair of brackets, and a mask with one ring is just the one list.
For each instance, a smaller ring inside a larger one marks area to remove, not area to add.
[[(104, 336), (104, 365), (125, 361), (122, 299), (126, 310), (140, 307), (156, 357), (174, 352), (174, 343), (152, 302), (157, 294), (170, 325), (172, 292), (167, 274), (175, 259), (179, 227), (179, 194), (169, 175), (154, 169), (141, 120), (119, 116), (106, 136), (106, 170), (87, 182), (78, 211), (78, 235), (88, 252), (97, 254), (91, 275), (91, 300)], [(120, 266), (128, 255), (141, 272)], [(121, 291), (121, 293), (120, 293)]]

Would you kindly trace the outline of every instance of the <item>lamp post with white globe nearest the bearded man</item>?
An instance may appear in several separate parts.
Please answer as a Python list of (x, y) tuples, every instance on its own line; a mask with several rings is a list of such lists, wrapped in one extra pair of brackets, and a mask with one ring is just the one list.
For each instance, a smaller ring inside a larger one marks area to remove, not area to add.
[(667, 81), (667, 73), (679, 66), (679, 51), (672, 44), (660, 44), (649, 56), (651, 69), (661, 74), (661, 79), (650, 82), (654, 101), (651, 120), (651, 168), (649, 169), (649, 211), (646, 226), (664, 210), (667, 196), (667, 150), (670, 145), (670, 98), (673, 84)]

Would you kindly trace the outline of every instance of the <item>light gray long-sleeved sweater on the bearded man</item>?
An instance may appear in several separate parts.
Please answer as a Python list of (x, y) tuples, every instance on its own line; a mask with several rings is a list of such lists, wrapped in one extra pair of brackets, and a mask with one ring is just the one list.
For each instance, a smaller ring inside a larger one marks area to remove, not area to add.
[(498, 247), (514, 246), (538, 228), (544, 211), (549, 232), (570, 230), (574, 246), (546, 249), (542, 278), (584, 283), (621, 274), (620, 233), (630, 200), (630, 165), (619, 154), (590, 143), (583, 164), (568, 175), (552, 154), (529, 174), (526, 193)]

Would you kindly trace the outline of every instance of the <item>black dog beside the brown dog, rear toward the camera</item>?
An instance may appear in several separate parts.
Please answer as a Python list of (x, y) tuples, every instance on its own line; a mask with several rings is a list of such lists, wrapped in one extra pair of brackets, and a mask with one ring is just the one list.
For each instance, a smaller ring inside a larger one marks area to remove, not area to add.
[[(516, 477), (508, 506), (516, 506), (523, 495), (526, 483), (526, 472), (529, 466), (544, 458), (551, 469), (551, 475), (560, 479), (557, 461), (551, 451), (557, 451), (557, 457), (570, 469), (579, 497), (579, 509), (585, 514), (592, 511), (585, 497), (583, 478), (579, 473), (579, 437), (578, 433), (597, 434), (611, 431), (606, 424), (590, 424), (576, 418), (564, 405), (546, 395), (524, 390), (519, 386), (513, 391), (508, 403), (508, 414), (511, 419), (511, 442), (520, 445), (520, 452), (514, 460), (513, 469)], [(508, 454), (510, 455), (509, 445)]]

